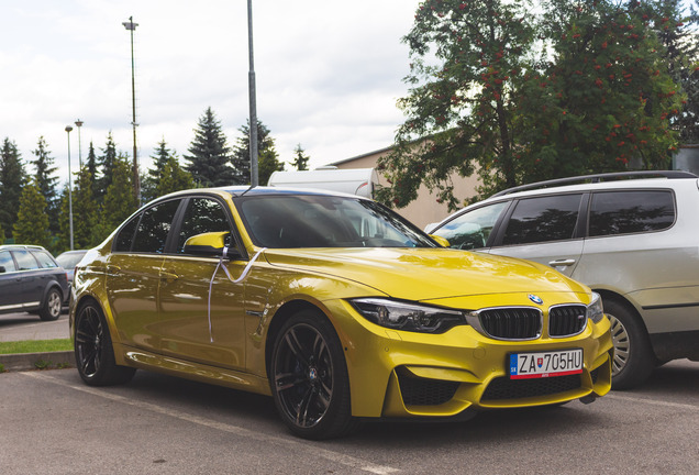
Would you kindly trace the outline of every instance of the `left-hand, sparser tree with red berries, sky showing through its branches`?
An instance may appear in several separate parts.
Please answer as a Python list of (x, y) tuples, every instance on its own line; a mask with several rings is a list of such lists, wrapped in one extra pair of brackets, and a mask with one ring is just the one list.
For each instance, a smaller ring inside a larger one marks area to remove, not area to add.
[(515, 100), (534, 32), (523, 2), (428, 0), (403, 38), (411, 49), (409, 96), (399, 101), (408, 119), (379, 170), (391, 187), (378, 199), (403, 207), (424, 183), (437, 200), (461, 205), (454, 173), (481, 173), (490, 188), (518, 184), (514, 151), (521, 131)]

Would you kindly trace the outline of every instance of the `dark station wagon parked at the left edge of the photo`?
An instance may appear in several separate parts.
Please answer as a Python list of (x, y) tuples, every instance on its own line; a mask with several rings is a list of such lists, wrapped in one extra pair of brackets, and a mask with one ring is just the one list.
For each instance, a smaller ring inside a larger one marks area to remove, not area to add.
[(0, 313), (60, 317), (68, 296), (66, 270), (48, 251), (34, 245), (0, 245)]

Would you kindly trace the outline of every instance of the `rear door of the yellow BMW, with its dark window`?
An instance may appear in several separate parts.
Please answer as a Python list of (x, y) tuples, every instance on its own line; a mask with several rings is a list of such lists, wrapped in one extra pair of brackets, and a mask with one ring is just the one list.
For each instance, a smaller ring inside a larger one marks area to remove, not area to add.
[(107, 259), (106, 290), (123, 344), (157, 352), (157, 295), (165, 246), (180, 200), (163, 201), (134, 217), (119, 231)]

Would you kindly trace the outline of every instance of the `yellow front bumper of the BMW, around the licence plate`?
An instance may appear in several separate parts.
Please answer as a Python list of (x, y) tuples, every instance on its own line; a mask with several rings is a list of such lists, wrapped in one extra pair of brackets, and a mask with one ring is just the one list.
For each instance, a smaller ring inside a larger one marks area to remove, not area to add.
[[(356, 417), (454, 417), (603, 396), (611, 389), (609, 320), (582, 333), (500, 341), (468, 325), (443, 334), (393, 331), (368, 322), (345, 301), (325, 302), (345, 349)], [(581, 374), (510, 379), (511, 353), (582, 349)]]

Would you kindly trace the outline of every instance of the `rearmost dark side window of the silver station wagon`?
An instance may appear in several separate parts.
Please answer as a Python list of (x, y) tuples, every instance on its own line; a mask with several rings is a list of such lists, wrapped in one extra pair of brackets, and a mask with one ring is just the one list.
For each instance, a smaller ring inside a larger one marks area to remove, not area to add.
[(590, 236), (667, 229), (675, 222), (670, 191), (609, 191), (592, 195)]

